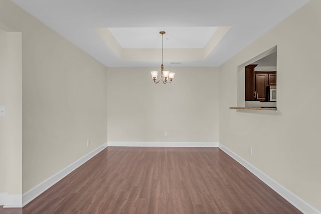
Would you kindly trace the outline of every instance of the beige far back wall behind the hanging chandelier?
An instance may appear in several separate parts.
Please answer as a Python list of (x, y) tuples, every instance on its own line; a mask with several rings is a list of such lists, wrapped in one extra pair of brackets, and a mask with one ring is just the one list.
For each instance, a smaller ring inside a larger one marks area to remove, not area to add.
[(108, 68), (108, 141), (218, 142), (218, 69), (166, 69), (164, 85), (160, 68)]

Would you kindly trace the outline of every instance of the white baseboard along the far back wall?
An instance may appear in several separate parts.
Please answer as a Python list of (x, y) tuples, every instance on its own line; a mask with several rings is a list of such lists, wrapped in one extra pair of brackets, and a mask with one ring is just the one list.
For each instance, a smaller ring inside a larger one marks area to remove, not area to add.
[(109, 141), (108, 146), (125, 147), (218, 147), (218, 142), (136, 142)]

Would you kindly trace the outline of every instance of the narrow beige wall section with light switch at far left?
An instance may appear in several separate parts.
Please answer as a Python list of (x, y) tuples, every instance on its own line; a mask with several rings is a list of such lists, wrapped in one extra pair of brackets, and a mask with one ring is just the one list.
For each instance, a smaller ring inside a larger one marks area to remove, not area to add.
[(22, 194), (22, 35), (0, 29), (0, 192)]

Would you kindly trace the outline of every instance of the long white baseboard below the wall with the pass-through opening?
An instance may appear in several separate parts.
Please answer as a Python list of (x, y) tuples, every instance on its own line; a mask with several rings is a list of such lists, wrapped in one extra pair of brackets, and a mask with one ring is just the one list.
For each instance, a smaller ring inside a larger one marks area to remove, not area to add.
[(274, 191), (276, 191), (279, 195), (281, 195), (285, 200), (295, 206), (298, 210), (306, 214), (321, 214), (314, 207), (306, 203), (300, 197), (286, 189), (284, 186), (277, 183), (275, 180), (258, 170), (252, 164), (235, 154), (233, 151), (219, 143), (219, 148), (222, 149), (225, 153), (230, 155), (233, 159), (239, 162), (242, 166), (252, 172), (256, 177), (262, 180), (266, 185), (271, 187)]

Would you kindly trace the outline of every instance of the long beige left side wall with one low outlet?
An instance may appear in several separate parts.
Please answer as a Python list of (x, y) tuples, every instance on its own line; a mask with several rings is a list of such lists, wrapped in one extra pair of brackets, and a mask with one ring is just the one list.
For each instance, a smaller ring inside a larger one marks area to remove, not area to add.
[(107, 69), (9, 0), (0, 22), (22, 32), (26, 192), (107, 141)]

